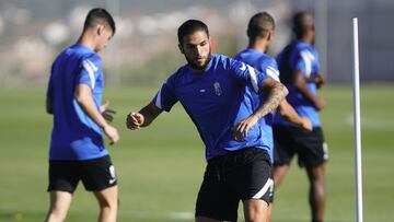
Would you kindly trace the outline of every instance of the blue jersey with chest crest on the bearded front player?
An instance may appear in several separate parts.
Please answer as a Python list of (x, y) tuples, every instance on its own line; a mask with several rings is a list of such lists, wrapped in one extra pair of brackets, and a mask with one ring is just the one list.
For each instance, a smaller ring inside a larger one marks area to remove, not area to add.
[(181, 102), (205, 143), (207, 160), (248, 147), (270, 152), (269, 138), (258, 124), (250, 129), (244, 141), (233, 139), (236, 124), (257, 108), (253, 94), (258, 93), (266, 78), (266, 73), (244, 62), (212, 55), (200, 72), (193, 72), (188, 65), (181, 67), (152, 102), (165, 112)]

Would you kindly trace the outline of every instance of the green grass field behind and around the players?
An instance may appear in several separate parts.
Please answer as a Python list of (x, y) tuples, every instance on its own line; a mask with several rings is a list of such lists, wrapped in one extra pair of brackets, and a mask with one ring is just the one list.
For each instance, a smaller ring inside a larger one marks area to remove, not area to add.
[[(128, 131), (125, 117), (155, 93), (107, 89), (117, 110), (114, 125), (121, 140), (109, 148), (119, 177), (119, 221), (194, 221), (195, 197), (204, 167), (199, 136), (179, 105), (150, 128)], [(326, 87), (322, 113), (329, 145), (327, 222), (356, 221), (352, 94)], [(394, 221), (394, 85), (361, 85), (364, 221)], [(48, 208), (47, 153), (51, 118), (45, 90), (0, 90), (0, 221), (43, 221)], [(309, 221), (306, 175), (292, 165), (276, 192), (274, 221)], [(95, 221), (97, 205), (80, 185), (67, 221)], [(240, 218), (243, 218), (242, 214)]]

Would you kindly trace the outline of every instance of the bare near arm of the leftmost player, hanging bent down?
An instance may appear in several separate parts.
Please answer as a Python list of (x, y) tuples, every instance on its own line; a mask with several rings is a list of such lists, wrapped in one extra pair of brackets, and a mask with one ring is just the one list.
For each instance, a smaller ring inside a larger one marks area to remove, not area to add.
[(119, 140), (117, 129), (107, 124), (103, 115), (96, 108), (92, 96), (92, 89), (86, 84), (78, 84), (76, 87), (74, 96), (83, 112), (94, 122), (96, 122), (99, 127), (103, 128), (104, 133), (111, 140), (109, 144), (114, 144), (115, 142), (117, 142)]

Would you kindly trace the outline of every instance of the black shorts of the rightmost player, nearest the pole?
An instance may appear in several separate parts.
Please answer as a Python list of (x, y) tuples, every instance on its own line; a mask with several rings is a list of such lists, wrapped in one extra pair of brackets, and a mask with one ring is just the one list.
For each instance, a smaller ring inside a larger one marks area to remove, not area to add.
[(289, 165), (294, 154), (299, 166), (315, 167), (328, 160), (328, 148), (320, 127), (312, 132), (301, 127), (274, 126), (274, 165)]

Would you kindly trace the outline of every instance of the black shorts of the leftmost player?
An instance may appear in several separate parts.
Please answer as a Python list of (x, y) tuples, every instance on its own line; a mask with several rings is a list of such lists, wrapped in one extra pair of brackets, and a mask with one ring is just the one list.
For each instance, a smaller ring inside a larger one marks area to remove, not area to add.
[(48, 191), (73, 194), (79, 180), (90, 191), (100, 191), (117, 184), (109, 155), (86, 161), (49, 161)]

